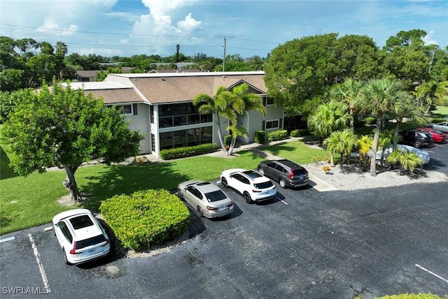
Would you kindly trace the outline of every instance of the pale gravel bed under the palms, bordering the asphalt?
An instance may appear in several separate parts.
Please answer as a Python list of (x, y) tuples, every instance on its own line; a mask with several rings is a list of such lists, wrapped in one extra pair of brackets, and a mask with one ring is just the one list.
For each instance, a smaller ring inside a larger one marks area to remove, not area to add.
[(339, 190), (371, 189), (381, 187), (400, 186), (405, 184), (419, 184), (432, 182), (448, 182), (448, 176), (444, 173), (425, 170), (419, 175), (402, 174), (398, 175), (398, 170), (378, 167), (377, 175), (372, 177), (370, 170), (362, 171), (358, 165), (344, 165), (344, 173), (341, 173), (340, 166), (331, 168), (329, 173), (323, 171), (325, 163), (309, 163), (304, 165), (309, 173), (319, 179), (331, 184)]

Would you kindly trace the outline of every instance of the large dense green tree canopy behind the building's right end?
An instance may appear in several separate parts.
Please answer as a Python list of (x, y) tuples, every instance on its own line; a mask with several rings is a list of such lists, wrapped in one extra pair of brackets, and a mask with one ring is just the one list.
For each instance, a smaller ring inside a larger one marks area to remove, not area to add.
[(346, 78), (363, 80), (382, 73), (379, 50), (366, 36), (307, 36), (272, 50), (264, 66), (269, 96), (288, 113), (311, 114), (307, 105)]

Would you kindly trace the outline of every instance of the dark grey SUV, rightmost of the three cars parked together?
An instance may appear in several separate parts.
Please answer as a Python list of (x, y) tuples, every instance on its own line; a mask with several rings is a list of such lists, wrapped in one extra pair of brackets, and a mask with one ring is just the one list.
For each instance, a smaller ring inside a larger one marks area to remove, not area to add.
[(308, 170), (290, 160), (267, 160), (258, 164), (258, 172), (279, 182), (281, 188), (308, 184)]

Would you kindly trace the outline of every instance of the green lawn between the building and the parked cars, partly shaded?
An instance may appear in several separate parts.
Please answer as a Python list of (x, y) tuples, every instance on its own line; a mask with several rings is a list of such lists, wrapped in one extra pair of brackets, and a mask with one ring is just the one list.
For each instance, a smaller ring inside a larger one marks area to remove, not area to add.
[[(325, 151), (311, 149), (301, 142), (280, 143), (266, 150), (299, 163), (310, 163), (311, 156)], [(6, 152), (6, 153), (5, 153)], [(20, 177), (8, 168), (8, 150), (1, 146), (0, 234), (49, 223), (52, 217), (73, 207), (59, 205), (57, 199), (68, 195), (62, 186), (64, 170), (33, 173)], [(235, 158), (196, 156), (176, 161), (146, 163), (144, 166), (86, 166), (76, 171), (76, 182), (83, 194), (92, 199), (80, 205), (98, 211), (102, 200), (116, 194), (132, 194), (141, 189), (174, 190), (179, 182), (192, 179), (218, 180), (229, 168), (256, 168), (262, 157), (238, 152)]]

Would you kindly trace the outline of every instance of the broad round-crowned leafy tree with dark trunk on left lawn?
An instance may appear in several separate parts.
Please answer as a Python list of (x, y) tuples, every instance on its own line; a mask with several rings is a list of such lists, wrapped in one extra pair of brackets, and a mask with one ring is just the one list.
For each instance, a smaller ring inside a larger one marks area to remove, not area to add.
[(28, 92), (18, 101), (2, 129), (10, 144), (10, 165), (19, 175), (45, 172), (50, 166), (66, 170), (64, 187), (73, 200), (81, 194), (75, 180), (79, 166), (92, 159), (110, 164), (139, 153), (144, 138), (130, 131), (116, 109), (104, 109), (102, 99), (52, 82), (41, 92)]

